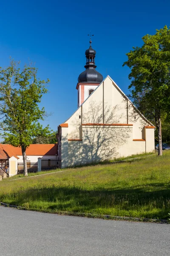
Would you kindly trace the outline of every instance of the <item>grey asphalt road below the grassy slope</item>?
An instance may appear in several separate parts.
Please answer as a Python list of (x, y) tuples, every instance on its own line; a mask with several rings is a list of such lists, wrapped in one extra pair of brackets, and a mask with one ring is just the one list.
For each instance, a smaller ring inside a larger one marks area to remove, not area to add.
[(170, 256), (170, 224), (0, 207), (0, 256)]

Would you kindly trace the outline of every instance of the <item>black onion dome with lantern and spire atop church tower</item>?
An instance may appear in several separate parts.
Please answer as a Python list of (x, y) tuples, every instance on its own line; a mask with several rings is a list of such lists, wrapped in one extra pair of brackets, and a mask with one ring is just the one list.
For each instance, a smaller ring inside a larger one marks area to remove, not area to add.
[(79, 83), (89, 83), (89, 84), (100, 84), (103, 81), (103, 76), (96, 71), (96, 65), (94, 62), (96, 51), (91, 47), (91, 40), (90, 40), (90, 47), (85, 51), (86, 55), (86, 64), (85, 64), (85, 71), (83, 71), (78, 78)]

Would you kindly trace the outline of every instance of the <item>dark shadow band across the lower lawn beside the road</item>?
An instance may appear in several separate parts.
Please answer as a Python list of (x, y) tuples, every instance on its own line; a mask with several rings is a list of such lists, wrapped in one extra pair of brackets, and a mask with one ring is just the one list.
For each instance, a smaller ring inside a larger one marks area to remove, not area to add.
[(60, 184), (13, 193), (11, 204), (22, 206), (26, 202), (37, 202), (39, 207), (40, 202), (45, 202), (45, 211), (50, 212), (110, 214), (113, 209), (117, 209), (120, 213), (128, 212), (128, 216), (131, 214), (132, 217), (167, 218), (170, 212), (170, 184), (152, 183), (148, 186), (153, 187), (152, 191), (147, 189), (147, 186), (132, 186), (130, 189), (122, 189), (119, 186), (110, 189), (87, 189), (63, 183), (63, 186)]

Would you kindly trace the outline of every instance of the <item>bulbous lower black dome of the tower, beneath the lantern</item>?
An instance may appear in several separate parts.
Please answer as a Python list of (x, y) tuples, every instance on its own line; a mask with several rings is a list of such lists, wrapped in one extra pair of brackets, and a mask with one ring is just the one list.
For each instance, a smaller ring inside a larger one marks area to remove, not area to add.
[(103, 81), (103, 76), (95, 70), (94, 67), (88, 67), (83, 71), (78, 78), (78, 82), (100, 84)]

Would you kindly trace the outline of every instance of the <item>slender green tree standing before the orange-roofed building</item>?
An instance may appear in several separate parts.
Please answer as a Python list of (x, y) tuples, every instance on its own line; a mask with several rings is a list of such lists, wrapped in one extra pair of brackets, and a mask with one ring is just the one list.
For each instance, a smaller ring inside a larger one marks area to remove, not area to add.
[(6, 143), (21, 147), (24, 175), (28, 175), (26, 148), (33, 137), (49, 133), (48, 126), (42, 128), (39, 122), (45, 109), (38, 106), (48, 82), (37, 79), (35, 67), (25, 65), (21, 70), (20, 62), (11, 60), (9, 67), (0, 68), (0, 130)]

